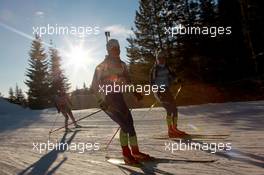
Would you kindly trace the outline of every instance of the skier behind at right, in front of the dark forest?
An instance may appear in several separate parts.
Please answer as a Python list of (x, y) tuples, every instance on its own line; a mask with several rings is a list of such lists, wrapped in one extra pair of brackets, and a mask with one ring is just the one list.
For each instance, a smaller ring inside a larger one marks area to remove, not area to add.
[(170, 92), (170, 85), (176, 81), (175, 74), (170, 70), (166, 64), (166, 52), (160, 51), (156, 55), (156, 62), (150, 72), (150, 84), (163, 86), (164, 90), (160, 90), (154, 94), (155, 98), (166, 109), (167, 116), (166, 121), (168, 125), (168, 136), (170, 138), (182, 138), (187, 137), (188, 134), (180, 131), (177, 127), (178, 110), (175, 99)]

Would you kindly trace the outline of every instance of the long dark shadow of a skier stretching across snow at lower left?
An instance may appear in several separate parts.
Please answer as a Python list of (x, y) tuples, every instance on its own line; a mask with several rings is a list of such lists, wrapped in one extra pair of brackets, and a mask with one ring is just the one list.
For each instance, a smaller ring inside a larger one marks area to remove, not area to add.
[(54, 148), (49, 153), (43, 155), (37, 162), (33, 163), (25, 170), (21, 171), (19, 175), (24, 175), (24, 174), (46, 175), (46, 174), (55, 173), (55, 171), (59, 169), (59, 167), (67, 160), (67, 157), (64, 157), (63, 160), (61, 160), (61, 162), (51, 170), (49, 170), (49, 168), (57, 160), (60, 153), (67, 151), (67, 149), (65, 149), (66, 147), (65, 144), (70, 145), (72, 140), (76, 136), (77, 132), (78, 131), (74, 131), (67, 142), (66, 142), (67, 133), (65, 133), (56, 148)]

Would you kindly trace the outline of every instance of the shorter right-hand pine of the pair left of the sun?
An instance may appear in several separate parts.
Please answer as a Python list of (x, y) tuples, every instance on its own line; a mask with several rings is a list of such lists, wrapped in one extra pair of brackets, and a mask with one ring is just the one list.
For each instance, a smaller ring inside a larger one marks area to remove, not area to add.
[(70, 88), (68, 79), (61, 69), (61, 57), (57, 49), (50, 47), (50, 82), (51, 82), (51, 99), (62, 90), (67, 92)]

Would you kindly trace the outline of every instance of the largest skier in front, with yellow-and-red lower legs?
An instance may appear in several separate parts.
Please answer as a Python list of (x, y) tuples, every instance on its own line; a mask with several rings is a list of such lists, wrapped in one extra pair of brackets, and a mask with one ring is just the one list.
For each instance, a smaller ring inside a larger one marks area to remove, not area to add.
[[(100, 86), (130, 83), (126, 64), (119, 57), (118, 40), (109, 40), (106, 48), (108, 55), (95, 69), (92, 89), (100, 107), (121, 128), (119, 138), (125, 163), (137, 164), (140, 161), (149, 160), (150, 156), (139, 151), (133, 118), (122, 92), (111, 92), (107, 95), (104, 92), (99, 92)], [(134, 95), (138, 100), (143, 98), (141, 94), (134, 93)]]

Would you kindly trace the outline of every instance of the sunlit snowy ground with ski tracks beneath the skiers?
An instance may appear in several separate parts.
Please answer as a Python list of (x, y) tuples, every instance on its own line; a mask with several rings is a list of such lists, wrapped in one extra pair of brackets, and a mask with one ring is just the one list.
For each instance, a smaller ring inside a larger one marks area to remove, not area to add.
[[(97, 109), (74, 111), (76, 118)], [(142, 168), (115, 166), (105, 161), (106, 143), (117, 129), (103, 112), (80, 122), (85, 126), (64, 135), (54, 133), (50, 142), (67, 142), (79, 146), (77, 151), (43, 151), (33, 143), (47, 143), (48, 132), (58, 115), (54, 109), (30, 111), (0, 99), (0, 174), (264, 174), (264, 101), (207, 104), (179, 108), (180, 128), (192, 134), (230, 134), (225, 139), (203, 140), (205, 143), (231, 143), (231, 151), (216, 154), (203, 150), (168, 151), (165, 144), (178, 141), (157, 140), (166, 134), (164, 110), (156, 108), (133, 111), (139, 144), (144, 152), (158, 158)], [(63, 125), (58, 116), (54, 128)], [(91, 143), (82, 152), (81, 143)], [(96, 150), (100, 144), (100, 149)], [(74, 147), (73, 147), (74, 148)], [(121, 156), (118, 137), (108, 155)], [(201, 162), (201, 161), (215, 162)]]

